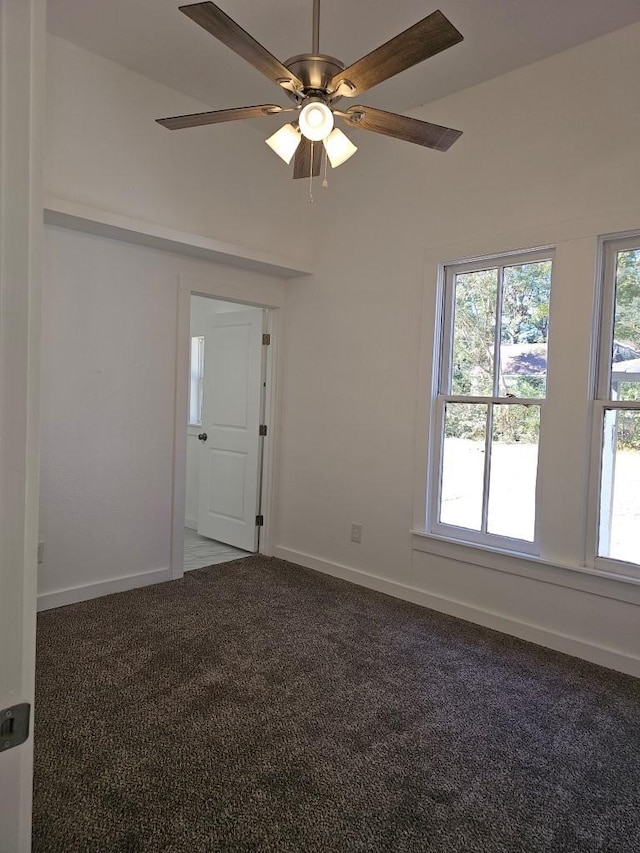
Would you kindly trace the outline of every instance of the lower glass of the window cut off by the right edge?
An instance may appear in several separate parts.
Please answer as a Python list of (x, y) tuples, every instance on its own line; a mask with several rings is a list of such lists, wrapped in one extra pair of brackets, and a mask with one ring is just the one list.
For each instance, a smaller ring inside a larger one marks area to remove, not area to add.
[(640, 563), (640, 412), (605, 412), (598, 554)]

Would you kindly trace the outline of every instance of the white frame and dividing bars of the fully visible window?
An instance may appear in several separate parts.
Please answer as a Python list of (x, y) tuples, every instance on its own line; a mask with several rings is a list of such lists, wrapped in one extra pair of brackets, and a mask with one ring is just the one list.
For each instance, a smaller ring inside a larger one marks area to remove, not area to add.
[[(433, 371), (433, 387), (432, 387), (432, 426), (431, 430), (431, 452), (429, 454), (430, 465), (427, 472), (427, 507), (426, 507), (426, 529), (434, 536), (458, 543), (466, 543), (471, 545), (481, 545), (494, 550), (505, 551), (523, 555), (539, 555), (539, 521), (540, 521), (540, 496), (541, 496), (541, 479), (536, 478), (536, 494), (535, 494), (535, 528), (533, 541), (524, 539), (516, 539), (507, 536), (501, 536), (495, 533), (470, 530), (468, 528), (456, 527), (450, 524), (445, 524), (439, 520), (440, 515), (440, 496), (442, 489), (442, 463), (444, 452), (444, 428), (445, 428), (445, 406), (450, 403), (479, 403), (486, 404), (489, 407), (493, 405), (532, 405), (538, 406), (540, 409), (540, 433), (538, 441), (538, 464), (542, 457), (542, 448), (544, 441), (544, 420), (546, 409), (546, 398), (519, 398), (519, 397), (500, 397), (500, 396), (471, 396), (471, 395), (453, 395), (446, 394), (441, 391), (442, 388), (449, 387), (449, 371), (452, 361), (452, 346), (453, 346), (453, 318), (454, 318), (454, 294), (453, 286), (456, 275), (465, 272), (476, 272), (486, 269), (498, 270), (498, 285), (497, 285), (497, 303), (496, 303), (496, 318), (502, 313), (502, 282), (504, 268), (517, 266), (520, 264), (535, 263), (537, 261), (551, 261), (552, 263), (552, 284), (553, 284), (553, 263), (554, 249), (536, 249), (525, 250), (520, 252), (505, 252), (499, 255), (477, 258), (474, 260), (461, 261), (451, 264), (446, 264), (441, 268), (441, 293), (439, 294), (439, 305), (437, 315), (437, 329), (439, 334), (435, 336), (435, 351)], [(549, 316), (549, 330), (551, 329), (551, 312)], [(549, 331), (550, 334), (550, 331)], [(498, 325), (496, 324), (496, 337), (494, 341), (494, 359), (498, 357), (498, 348), (500, 346)], [(497, 362), (495, 362), (497, 363)], [(494, 394), (496, 388), (494, 385)], [(491, 411), (491, 410), (490, 410)], [(490, 460), (492, 450), (492, 414), (489, 415), (489, 429), (485, 437), (485, 454)], [(490, 477), (488, 472), (489, 465), (485, 465), (484, 481), (483, 481), (483, 526), (486, 526), (486, 513), (488, 511), (489, 501), (489, 484)]]

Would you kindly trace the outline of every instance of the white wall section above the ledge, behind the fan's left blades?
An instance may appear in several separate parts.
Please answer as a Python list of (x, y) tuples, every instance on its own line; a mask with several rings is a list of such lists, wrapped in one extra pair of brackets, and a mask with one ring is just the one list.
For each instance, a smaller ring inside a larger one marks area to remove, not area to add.
[(294, 259), (313, 256), (322, 199), (308, 204), (306, 182), (290, 179), (263, 141), (281, 119), (265, 118), (263, 132), (254, 122), (168, 131), (155, 119), (209, 107), (56, 36), (47, 59), (47, 194), (247, 248), (283, 247)]

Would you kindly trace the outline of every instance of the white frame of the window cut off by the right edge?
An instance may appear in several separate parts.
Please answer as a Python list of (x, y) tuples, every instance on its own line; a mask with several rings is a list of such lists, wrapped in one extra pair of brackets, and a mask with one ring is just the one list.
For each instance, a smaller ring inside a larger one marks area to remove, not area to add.
[(591, 477), (587, 527), (587, 565), (612, 575), (640, 578), (640, 564), (598, 554), (603, 486), (602, 455), (604, 419), (608, 410), (640, 411), (640, 401), (613, 400), (611, 394), (611, 353), (614, 339), (616, 299), (616, 263), (619, 252), (640, 248), (640, 232), (612, 235), (600, 241), (599, 316), (594, 324), (596, 350), (595, 387), (593, 389)]

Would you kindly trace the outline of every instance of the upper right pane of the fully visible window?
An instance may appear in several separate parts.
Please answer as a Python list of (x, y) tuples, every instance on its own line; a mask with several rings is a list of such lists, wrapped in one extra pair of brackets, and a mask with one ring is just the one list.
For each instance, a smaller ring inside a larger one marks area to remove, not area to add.
[(544, 397), (551, 261), (504, 268), (499, 394)]

